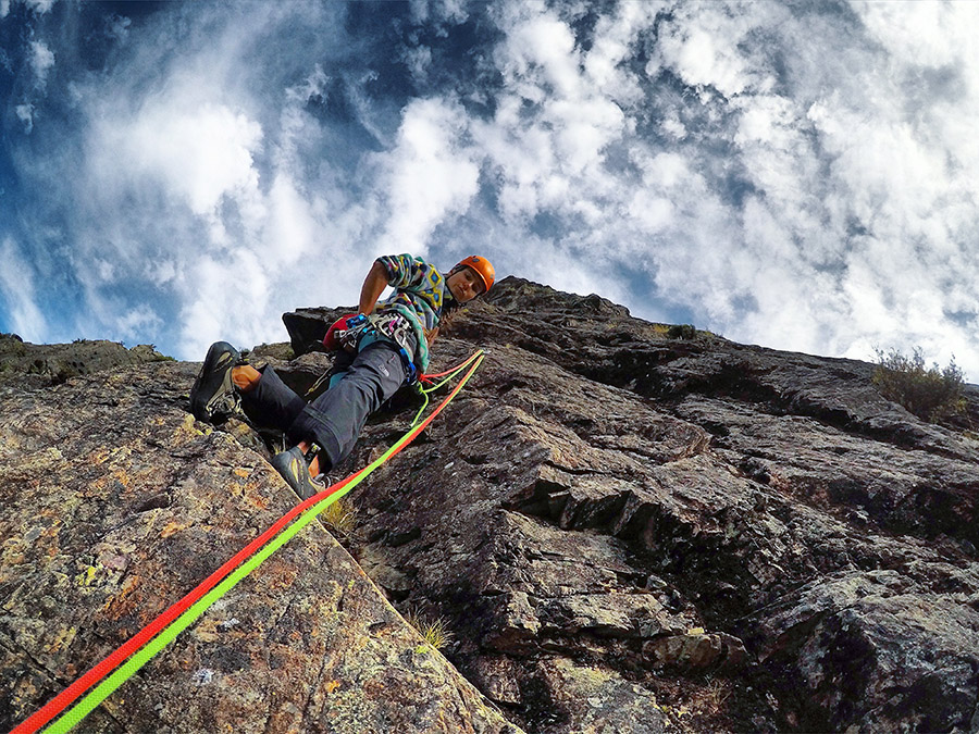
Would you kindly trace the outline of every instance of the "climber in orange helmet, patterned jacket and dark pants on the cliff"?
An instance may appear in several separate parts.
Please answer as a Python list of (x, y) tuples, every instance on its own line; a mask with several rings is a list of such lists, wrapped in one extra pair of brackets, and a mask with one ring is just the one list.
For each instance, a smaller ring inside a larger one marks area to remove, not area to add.
[[(330, 389), (307, 403), (271, 366), (258, 370), (232, 345), (216, 341), (190, 390), (190, 409), (213, 421), (240, 406), (256, 424), (283, 431), (293, 447), (276, 453), (272, 465), (308, 499), (325, 488), (323, 476), (350, 453), (371, 413), (426, 369), (441, 321), (490, 290), (495, 275), (479, 256), (460, 261), (448, 275), (410, 254), (377, 258), (357, 314), (340, 324), (344, 348), (330, 373)], [(375, 311), (388, 285), (394, 294)]]

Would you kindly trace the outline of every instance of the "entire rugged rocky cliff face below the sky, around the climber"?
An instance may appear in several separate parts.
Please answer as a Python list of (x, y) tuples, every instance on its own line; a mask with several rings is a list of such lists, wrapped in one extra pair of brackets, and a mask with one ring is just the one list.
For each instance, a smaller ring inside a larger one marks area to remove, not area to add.
[[(295, 351), (338, 312), (286, 314)], [(975, 388), (956, 423), (922, 423), (866, 363), (518, 278), (455, 318), (432, 369), (476, 347), (352, 526), (307, 528), (90, 731), (979, 730)], [(297, 387), (329, 362), (290, 351), (253, 358)], [(269, 436), (186, 412), (196, 368), (0, 385), (0, 725), (296, 501)], [(443, 620), (445, 657), (396, 610)]]

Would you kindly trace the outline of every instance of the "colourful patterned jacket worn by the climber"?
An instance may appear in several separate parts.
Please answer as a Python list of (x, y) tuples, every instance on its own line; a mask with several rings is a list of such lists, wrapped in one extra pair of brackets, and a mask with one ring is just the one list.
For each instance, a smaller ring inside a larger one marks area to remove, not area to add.
[(377, 312), (402, 314), (418, 338), (414, 363), (424, 372), (429, 368), (429, 341), (425, 331), (438, 326), (445, 302), (445, 276), (434, 265), (410, 254), (377, 258), (387, 271), (387, 282), (395, 293), (377, 306)]

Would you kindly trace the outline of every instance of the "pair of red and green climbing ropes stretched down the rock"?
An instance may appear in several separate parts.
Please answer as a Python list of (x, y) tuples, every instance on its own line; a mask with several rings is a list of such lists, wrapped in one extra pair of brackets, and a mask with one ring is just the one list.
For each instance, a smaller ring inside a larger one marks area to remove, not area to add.
[[(239, 550), (193, 592), (171, 606), (114, 652), (48, 701), (45, 707), (16, 726), (11, 734), (34, 734), (34, 732), (39, 731), (41, 726), (59, 716), (61, 718), (48, 726), (45, 730), (45, 734), (61, 734), (77, 725), (92, 709), (131, 679), (181, 632), (197, 621), (218, 599), (257, 569), (278, 548), (288, 543), (293, 536), (311, 523), (317, 515), (349, 493), (374, 470), (414, 440), (469, 382), (469, 378), (482, 363), (484, 356), (484, 352), (479, 350), (462, 364), (450, 370), (449, 374), (455, 375), (467, 366), (469, 368), (469, 371), (445, 399), (438, 403), (435, 410), (418, 425), (412, 423), (413, 427), (395, 441), (381, 457), (360, 471), (331, 485), (286, 512), (275, 524)], [(438, 385), (435, 387), (438, 387)], [(434, 390), (435, 387), (431, 388), (430, 391)], [(418, 418), (416, 416), (417, 422)], [(289, 525), (293, 520), (296, 520), (296, 522)], [(287, 525), (288, 527), (286, 527)], [(106, 677), (107, 675), (108, 677)], [(97, 683), (98, 685), (94, 691), (65, 711), (82, 694)], [(63, 716), (62, 712), (64, 712)]]

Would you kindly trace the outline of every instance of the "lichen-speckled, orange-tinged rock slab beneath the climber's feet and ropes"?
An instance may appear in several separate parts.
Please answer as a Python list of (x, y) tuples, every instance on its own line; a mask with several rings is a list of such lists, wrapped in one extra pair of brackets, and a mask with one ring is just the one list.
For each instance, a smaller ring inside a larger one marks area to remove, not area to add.
[[(186, 412), (195, 365), (2, 387), (0, 725), (179, 599), (297, 498)], [(71, 410), (66, 410), (71, 406)], [(80, 731), (515, 731), (315, 523)]]

